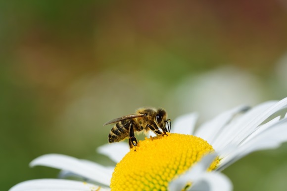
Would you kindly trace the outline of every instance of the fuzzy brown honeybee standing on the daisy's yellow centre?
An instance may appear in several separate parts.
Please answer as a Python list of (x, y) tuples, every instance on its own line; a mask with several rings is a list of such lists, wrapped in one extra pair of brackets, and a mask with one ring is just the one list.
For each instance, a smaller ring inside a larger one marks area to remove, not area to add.
[[(167, 119), (167, 112), (162, 108), (140, 108), (136, 111), (136, 114), (118, 117), (103, 125), (112, 123), (116, 124), (109, 133), (109, 143), (119, 142), (125, 138), (129, 138), (130, 148), (138, 145), (138, 141), (135, 137), (135, 132), (137, 131), (147, 133), (151, 130), (157, 135), (166, 136), (166, 132), (170, 132), (171, 128), (171, 119)], [(166, 124), (168, 128), (166, 128)]]

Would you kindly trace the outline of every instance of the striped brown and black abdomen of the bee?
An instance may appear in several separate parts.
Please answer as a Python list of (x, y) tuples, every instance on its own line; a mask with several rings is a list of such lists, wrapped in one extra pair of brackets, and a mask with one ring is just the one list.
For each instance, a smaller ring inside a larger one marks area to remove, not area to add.
[(129, 123), (117, 122), (109, 133), (109, 143), (119, 142), (129, 136)]

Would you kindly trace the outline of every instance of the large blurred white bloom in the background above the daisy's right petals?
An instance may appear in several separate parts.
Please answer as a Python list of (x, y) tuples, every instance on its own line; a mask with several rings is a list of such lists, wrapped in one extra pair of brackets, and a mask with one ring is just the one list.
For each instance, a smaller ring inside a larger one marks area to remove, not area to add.
[(253, 106), (265, 99), (262, 81), (236, 67), (217, 68), (183, 78), (168, 96), (167, 104), (174, 112), (184, 114), (192, 109), (202, 121), (242, 103)]

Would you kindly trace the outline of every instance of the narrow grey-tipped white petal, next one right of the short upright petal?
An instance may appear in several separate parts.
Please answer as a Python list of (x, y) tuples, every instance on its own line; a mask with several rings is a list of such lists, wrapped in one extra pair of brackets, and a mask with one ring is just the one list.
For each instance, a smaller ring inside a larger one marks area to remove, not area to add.
[(248, 109), (249, 107), (240, 106), (227, 112), (224, 112), (220, 115), (217, 115), (211, 121), (202, 124), (194, 135), (206, 140), (209, 144), (213, 145), (214, 139), (225, 127), (225, 125), (228, 124), (236, 114), (244, 112)]

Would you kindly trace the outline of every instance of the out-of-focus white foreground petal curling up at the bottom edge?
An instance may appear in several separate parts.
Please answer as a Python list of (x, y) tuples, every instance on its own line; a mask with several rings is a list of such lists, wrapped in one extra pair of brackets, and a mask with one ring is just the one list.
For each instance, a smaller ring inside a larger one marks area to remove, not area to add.
[(233, 186), (227, 176), (218, 172), (205, 172), (189, 191), (232, 191)]

